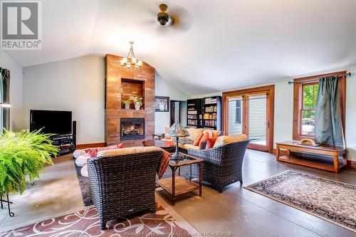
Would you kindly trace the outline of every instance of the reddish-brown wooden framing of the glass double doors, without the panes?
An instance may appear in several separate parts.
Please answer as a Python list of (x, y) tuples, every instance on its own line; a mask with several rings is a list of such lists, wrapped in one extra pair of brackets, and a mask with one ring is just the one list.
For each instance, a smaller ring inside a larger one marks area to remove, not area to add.
[[(229, 135), (229, 116), (228, 116), (228, 99), (241, 96), (247, 93), (261, 93), (266, 92), (268, 94), (267, 97), (267, 122), (269, 126), (267, 128), (266, 138), (267, 138), (267, 147), (268, 152), (273, 153), (273, 132), (274, 132), (274, 85), (265, 85), (257, 88), (247, 88), (242, 90), (232, 90), (226, 91), (222, 93), (222, 104), (223, 104), (223, 113), (222, 113), (222, 122), (223, 122), (223, 129), (226, 135)], [(244, 104), (247, 103), (246, 96), (243, 97)], [(248, 115), (248, 106), (244, 105), (244, 121), (245, 123), (248, 122), (247, 115)], [(243, 132), (246, 133), (247, 128), (243, 127)], [(258, 149), (258, 144), (253, 144), (251, 149)]]

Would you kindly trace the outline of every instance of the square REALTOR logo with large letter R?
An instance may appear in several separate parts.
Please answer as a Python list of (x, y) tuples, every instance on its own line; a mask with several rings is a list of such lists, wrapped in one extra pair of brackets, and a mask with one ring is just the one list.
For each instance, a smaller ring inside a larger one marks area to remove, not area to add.
[(1, 49), (41, 50), (41, 1), (1, 2)]

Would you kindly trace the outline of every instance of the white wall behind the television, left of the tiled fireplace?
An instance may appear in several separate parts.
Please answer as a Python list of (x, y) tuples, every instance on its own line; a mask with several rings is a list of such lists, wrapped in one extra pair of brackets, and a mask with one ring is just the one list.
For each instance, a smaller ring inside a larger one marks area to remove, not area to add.
[(104, 142), (104, 58), (85, 56), (23, 68), (23, 120), (29, 111), (71, 110), (77, 143)]

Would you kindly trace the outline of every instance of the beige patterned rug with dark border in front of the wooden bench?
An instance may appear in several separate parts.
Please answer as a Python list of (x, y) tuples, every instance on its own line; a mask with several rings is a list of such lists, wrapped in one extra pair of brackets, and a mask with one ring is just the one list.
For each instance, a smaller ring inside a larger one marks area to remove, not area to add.
[(351, 184), (288, 170), (244, 188), (356, 232)]

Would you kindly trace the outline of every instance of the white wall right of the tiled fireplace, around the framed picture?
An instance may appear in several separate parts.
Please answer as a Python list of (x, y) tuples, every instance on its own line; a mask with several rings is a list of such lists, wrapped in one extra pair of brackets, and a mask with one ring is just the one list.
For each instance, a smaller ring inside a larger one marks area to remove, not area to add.
[[(169, 100), (187, 100), (189, 95), (184, 93), (179, 88), (163, 80), (156, 73), (156, 95), (169, 96)], [(155, 112), (155, 133), (164, 133), (164, 127), (169, 127), (170, 122), (169, 112)], [(184, 120), (185, 121), (185, 120)]]

